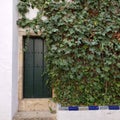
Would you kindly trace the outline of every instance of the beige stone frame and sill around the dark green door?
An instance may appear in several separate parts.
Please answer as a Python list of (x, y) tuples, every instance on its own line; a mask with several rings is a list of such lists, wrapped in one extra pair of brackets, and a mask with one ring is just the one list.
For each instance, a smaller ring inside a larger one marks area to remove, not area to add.
[[(30, 36), (40, 36), (41, 32), (38, 35), (30, 31)], [(24, 52), (23, 52), (23, 36), (26, 36), (26, 30), (19, 28), (18, 36), (18, 111), (48, 111), (49, 107), (53, 109), (56, 108), (56, 104), (52, 102), (49, 98), (23, 98), (23, 75), (24, 75)], [(53, 97), (53, 92), (52, 92)]]

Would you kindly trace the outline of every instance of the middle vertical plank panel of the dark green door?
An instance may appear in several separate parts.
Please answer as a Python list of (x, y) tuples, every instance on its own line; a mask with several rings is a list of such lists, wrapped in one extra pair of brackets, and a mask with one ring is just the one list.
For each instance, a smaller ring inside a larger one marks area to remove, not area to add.
[[(43, 97), (43, 40), (35, 39), (34, 48), (34, 97)], [(40, 91), (40, 92), (38, 92)]]

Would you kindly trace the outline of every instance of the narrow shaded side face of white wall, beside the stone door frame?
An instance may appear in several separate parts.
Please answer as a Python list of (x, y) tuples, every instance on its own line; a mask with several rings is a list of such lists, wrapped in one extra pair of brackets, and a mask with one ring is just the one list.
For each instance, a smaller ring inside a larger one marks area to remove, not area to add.
[(12, 116), (18, 109), (18, 28), (16, 21), (18, 0), (13, 0), (13, 49), (12, 49)]

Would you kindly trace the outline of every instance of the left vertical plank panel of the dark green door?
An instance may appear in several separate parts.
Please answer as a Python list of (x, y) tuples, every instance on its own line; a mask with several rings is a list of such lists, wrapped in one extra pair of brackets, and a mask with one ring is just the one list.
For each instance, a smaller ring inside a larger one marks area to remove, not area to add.
[(27, 42), (27, 50), (24, 54), (24, 98), (33, 97), (33, 40)]

